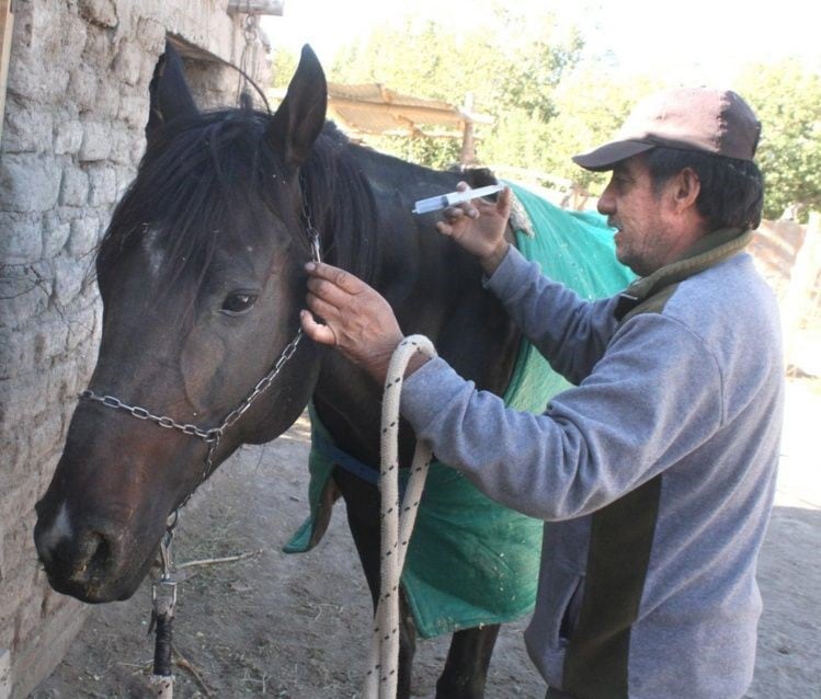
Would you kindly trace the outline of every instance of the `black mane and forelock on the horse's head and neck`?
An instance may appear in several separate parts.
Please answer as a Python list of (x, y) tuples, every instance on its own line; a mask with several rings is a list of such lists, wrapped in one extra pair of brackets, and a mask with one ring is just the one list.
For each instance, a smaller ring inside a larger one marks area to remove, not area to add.
[[(270, 122), (270, 114), (247, 107), (204, 112), (171, 123), (149, 141), (101, 241), (98, 276), (150, 233), (162, 250), (164, 288), (193, 279), (196, 294), (224, 237), (249, 244), (266, 234), (262, 225), (243, 230), (235, 221), (240, 210), (253, 216), (261, 204), (283, 218), (273, 194), (277, 179), (285, 182), (289, 173), (266, 136)], [(326, 124), (299, 180), (323, 253), (367, 279), (376, 255), (374, 196), (350, 147), (333, 124)], [(305, 220), (303, 230), (292, 233), (308, 260), (304, 228)]]

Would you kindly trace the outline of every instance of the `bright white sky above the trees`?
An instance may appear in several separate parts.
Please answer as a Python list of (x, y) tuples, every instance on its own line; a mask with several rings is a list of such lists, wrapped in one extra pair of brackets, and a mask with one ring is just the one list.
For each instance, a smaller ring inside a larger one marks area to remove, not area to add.
[[(263, 28), (274, 46), (298, 50), (308, 43), (330, 65), (345, 42), (408, 12), (435, 18), (457, 35), (491, 1), (284, 0), (283, 16), (265, 18)], [(534, 14), (548, 7), (580, 24), (588, 46), (609, 53), (625, 70), (650, 66), (682, 84), (732, 87), (744, 65), (788, 56), (821, 72), (821, 3), (813, 0), (516, 0), (511, 7)]]

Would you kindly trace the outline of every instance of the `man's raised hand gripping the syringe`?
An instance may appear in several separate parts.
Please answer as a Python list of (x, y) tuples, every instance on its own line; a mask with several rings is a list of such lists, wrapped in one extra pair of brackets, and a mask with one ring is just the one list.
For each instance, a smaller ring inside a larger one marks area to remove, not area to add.
[[(468, 185), (459, 182), (456, 188), (464, 192)], [(495, 202), (471, 199), (446, 208), (445, 220), (436, 224), (436, 230), (479, 257), (482, 270), (490, 276), (508, 254), (510, 243), (504, 239), (504, 230), (510, 213), (511, 191), (504, 187)]]

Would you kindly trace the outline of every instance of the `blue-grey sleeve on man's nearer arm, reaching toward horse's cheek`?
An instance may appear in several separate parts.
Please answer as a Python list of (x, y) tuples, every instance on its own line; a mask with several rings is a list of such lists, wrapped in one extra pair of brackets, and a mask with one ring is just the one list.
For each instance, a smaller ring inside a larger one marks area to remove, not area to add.
[(647, 313), (540, 415), (508, 409), (441, 358), (406, 379), (401, 411), (436, 458), (489, 497), (556, 520), (594, 512), (677, 462), (718, 429), (721, 405), (704, 342)]

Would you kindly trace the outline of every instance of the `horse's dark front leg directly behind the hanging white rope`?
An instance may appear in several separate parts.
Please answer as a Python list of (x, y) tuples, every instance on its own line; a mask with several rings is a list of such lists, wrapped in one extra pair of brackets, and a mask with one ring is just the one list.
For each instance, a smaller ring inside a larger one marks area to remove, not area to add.
[[(362, 570), (365, 573), (370, 599), (376, 610), (379, 597), (379, 492), (375, 486), (340, 468), (333, 469), (333, 480), (342, 493)], [(368, 639), (368, 643), (370, 639)], [(404, 595), (399, 598), (399, 675), (397, 699), (410, 699), (411, 668), (417, 650), (417, 629)]]

